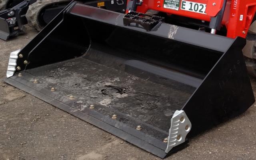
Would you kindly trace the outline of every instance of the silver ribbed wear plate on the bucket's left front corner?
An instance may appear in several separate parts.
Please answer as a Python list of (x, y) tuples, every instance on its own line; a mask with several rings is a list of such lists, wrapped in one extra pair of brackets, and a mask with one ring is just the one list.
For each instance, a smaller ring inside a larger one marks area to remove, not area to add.
[(13, 74), (16, 70), (16, 65), (17, 65), (16, 62), (17, 62), (17, 59), (18, 59), (19, 52), (20, 52), (20, 50), (16, 50), (14, 52), (11, 52), (11, 54), (10, 54), (8, 68), (7, 68), (7, 72), (6, 72), (6, 77), (7, 78), (13, 76)]

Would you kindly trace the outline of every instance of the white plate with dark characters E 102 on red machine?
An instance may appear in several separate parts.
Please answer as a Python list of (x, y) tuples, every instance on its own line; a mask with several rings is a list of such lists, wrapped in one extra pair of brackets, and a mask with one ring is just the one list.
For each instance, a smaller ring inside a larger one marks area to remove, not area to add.
[(190, 12), (206, 14), (205, 13), (206, 4), (202, 4), (202, 3), (196, 3), (196, 2), (190, 2), (190, 1), (182, 0), (181, 5), (180, 5), (180, 9), (181, 10), (187, 10), (187, 11), (190, 11)]

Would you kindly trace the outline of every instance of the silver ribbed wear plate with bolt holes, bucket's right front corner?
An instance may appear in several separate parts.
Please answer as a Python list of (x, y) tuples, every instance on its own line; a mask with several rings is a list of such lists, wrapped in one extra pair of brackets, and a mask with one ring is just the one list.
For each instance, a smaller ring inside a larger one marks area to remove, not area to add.
[(173, 147), (184, 143), (190, 130), (191, 122), (184, 110), (176, 110), (171, 118), (171, 127), (165, 152), (168, 153)]

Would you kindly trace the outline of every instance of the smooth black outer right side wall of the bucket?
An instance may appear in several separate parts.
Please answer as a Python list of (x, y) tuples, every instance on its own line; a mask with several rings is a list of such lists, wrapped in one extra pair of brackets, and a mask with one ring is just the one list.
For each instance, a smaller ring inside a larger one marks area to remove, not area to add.
[(238, 116), (254, 103), (242, 54), (244, 45), (244, 38), (234, 40), (184, 106), (192, 123), (189, 136)]

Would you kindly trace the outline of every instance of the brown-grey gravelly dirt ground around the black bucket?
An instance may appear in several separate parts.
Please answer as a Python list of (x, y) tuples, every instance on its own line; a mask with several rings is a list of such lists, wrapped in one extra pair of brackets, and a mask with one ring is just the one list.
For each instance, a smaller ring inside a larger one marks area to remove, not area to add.
[[(6, 83), (10, 52), (36, 31), (0, 40), (0, 160), (160, 160)], [(251, 78), (256, 89), (256, 80)], [(256, 93), (256, 91), (254, 90)], [(166, 160), (255, 160), (256, 106), (190, 140)]]

